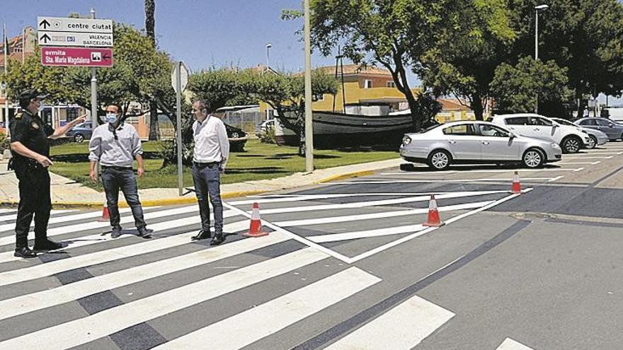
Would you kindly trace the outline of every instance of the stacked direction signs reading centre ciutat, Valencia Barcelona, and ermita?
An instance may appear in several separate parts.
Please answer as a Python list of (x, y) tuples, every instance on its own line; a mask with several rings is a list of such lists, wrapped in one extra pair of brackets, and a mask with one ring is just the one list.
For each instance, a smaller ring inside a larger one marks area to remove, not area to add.
[(38, 17), (44, 66), (113, 66), (113, 21)]

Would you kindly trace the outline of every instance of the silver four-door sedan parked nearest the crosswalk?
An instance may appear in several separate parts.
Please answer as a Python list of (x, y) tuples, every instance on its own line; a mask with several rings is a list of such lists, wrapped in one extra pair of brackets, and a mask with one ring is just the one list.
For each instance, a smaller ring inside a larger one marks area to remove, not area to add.
[(457, 163), (518, 163), (538, 168), (561, 160), (562, 150), (552, 141), (520, 136), (490, 122), (451, 122), (420, 133), (405, 134), (400, 156), (445, 170)]

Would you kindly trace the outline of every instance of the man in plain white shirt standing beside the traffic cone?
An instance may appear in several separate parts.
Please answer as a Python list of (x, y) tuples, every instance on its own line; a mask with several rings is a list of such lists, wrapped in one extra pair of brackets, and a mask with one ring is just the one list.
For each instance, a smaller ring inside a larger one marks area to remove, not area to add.
[(205, 101), (193, 103), (193, 137), (195, 150), (193, 156), (193, 181), (199, 202), (201, 229), (192, 240), (210, 238), (210, 207), (212, 203), (215, 217), (215, 237), (210, 245), (219, 245), (225, 240), (223, 235), (223, 204), (221, 202), (220, 175), (224, 173), (229, 157), (227, 129), (221, 119), (210, 115)]

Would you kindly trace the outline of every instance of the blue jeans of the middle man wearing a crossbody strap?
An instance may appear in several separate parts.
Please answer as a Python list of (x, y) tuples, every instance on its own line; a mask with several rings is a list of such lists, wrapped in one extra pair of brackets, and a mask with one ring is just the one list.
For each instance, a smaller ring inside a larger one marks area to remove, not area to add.
[(139, 201), (139, 192), (136, 185), (136, 176), (132, 168), (104, 167), (102, 166), (102, 182), (106, 192), (108, 214), (110, 214), (110, 226), (120, 227), (119, 216), (119, 189), (123, 191), (125, 202), (132, 209), (135, 226), (138, 229), (147, 226), (143, 218), (143, 209)]

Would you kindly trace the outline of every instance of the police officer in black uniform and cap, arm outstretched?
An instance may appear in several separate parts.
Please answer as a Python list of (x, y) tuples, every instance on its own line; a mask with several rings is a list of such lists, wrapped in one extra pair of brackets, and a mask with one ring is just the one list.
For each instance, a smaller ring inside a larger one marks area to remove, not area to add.
[[(38, 115), (45, 105), (43, 95), (34, 90), (20, 94), (19, 112), (9, 123), (11, 130), (11, 163), (19, 180), (20, 202), (15, 226), (16, 257), (36, 257), (35, 251), (56, 250), (62, 244), (47, 239), (47, 221), (50, 219), (50, 141), (63, 136), (76, 124), (85, 121), (86, 115), (74, 119), (59, 129), (52, 129)], [(28, 247), (28, 231), (35, 216), (35, 247)]]

